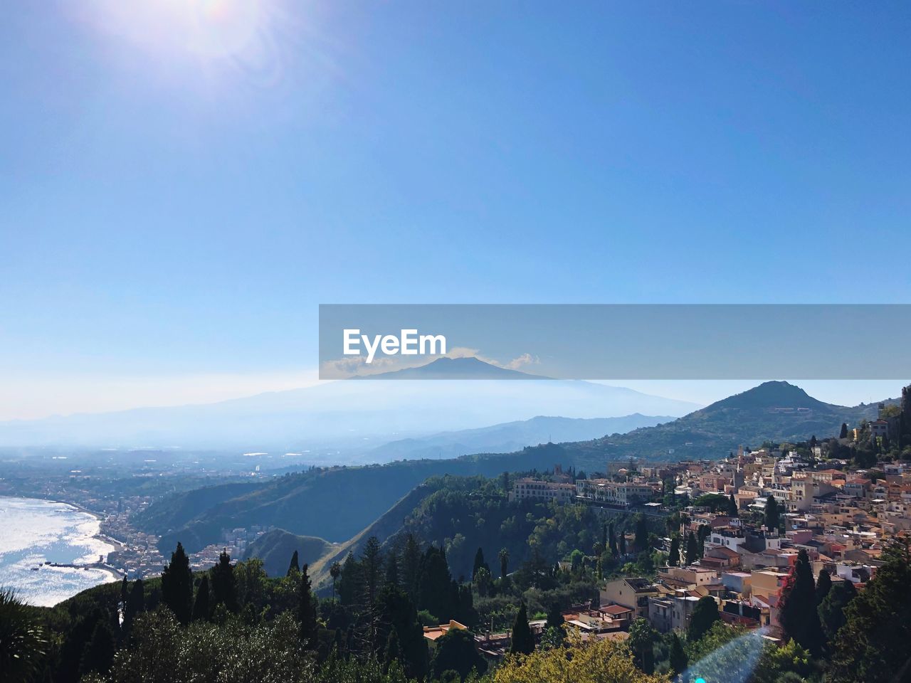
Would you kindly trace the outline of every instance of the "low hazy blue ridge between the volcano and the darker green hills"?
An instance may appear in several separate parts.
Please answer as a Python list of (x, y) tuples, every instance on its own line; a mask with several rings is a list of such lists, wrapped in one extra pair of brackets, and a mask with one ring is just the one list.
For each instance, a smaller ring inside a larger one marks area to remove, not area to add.
[(589, 419), (538, 415), (530, 420), (384, 443), (365, 453), (364, 459), (367, 462), (383, 463), (405, 458), (455, 458), (472, 453), (512, 453), (537, 443), (587, 441), (603, 434), (630, 432), (673, 419), (666, 415), (655, 417), (640, 413)]

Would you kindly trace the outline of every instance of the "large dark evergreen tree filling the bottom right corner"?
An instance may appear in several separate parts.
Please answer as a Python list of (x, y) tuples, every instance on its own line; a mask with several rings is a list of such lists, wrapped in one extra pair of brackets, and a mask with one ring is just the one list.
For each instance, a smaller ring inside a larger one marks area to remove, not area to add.
[(882, 559), (874, 578), (844, 607), (846, 621), (832, 647), (836, 683), (911, 678), (911, 552), (896, 541)]

